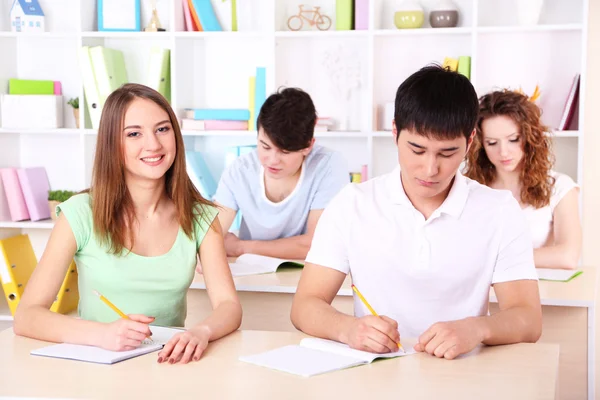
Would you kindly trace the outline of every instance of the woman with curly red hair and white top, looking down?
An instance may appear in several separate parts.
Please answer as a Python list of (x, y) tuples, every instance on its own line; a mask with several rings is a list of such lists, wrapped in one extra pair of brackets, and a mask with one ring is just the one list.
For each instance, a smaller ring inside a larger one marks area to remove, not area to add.
[(579, 187), (552, 170), (552, 142), (541, 110), (526, 95), (509, 90), (479, 100), (465, 175), (513, 193), (529, 221), (538, 268), (576, 268), (582, 241)]

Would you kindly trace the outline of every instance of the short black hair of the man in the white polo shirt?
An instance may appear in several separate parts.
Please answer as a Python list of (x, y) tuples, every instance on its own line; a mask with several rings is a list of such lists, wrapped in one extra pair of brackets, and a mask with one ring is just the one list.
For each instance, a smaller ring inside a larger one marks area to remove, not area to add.
[(469, 79), (439, 65), (428, 65), (413, 73), (396, 92), (394, 120), (398, 134), (407, 129), (439, 140), (461, 136), (468, 140), (478, 113), (477, 92)]

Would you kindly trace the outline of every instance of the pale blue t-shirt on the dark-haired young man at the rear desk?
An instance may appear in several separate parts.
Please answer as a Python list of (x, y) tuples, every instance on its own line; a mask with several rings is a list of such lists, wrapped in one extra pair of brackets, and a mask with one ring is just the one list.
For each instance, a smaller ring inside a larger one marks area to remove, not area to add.
[(311, 210), (324, 209), (350, 183), (344, 157), (315, 145), (304, 160), (292, 193), (279, 203), (265, 194), (264, 169), (257, 151), (238, 157), (224, 172), (214, 200), (242, 212), (242, 240), (275, 240), (306, 233)]

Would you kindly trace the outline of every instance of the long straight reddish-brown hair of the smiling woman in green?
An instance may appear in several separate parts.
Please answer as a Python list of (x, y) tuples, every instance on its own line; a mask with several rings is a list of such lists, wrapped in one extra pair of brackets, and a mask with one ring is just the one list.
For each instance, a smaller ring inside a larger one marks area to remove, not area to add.
[(121, 254), (126, 246), (133, 247), (135, 222), (134, 204), (125, 183), (122, 131), (125, 112), (136, 98), (154, 102), (169, 115), (175, 135), (175, 159), (165, 174), (165, 190), (175, 204), (179, 225), (192, 239), (194, 223), (204, 218), (202, 206), (214, 204), (202, 197), (186, 172), (183, 137), (179, 123), (168, 101), (157, 91), (128, 83), (108, 96), (102, 110), (90, 193), (94, 233), (101, 244), (113, 254)]

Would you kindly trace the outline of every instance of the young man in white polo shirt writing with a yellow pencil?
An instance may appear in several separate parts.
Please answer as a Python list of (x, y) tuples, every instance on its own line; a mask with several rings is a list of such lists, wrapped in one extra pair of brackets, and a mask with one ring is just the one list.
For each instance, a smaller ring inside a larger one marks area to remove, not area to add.
[[(453, 359), (480, 343), (535, 342), (542, 329), (527, 223), (508, 191), (458, 171), (474, 135), (477, 94), (467, 78), (425, 67), (396, 93), (399, 167), (345, 187), (323, 212), (292, 306), (313, 336), (376, 353)], [(331, 306), (347, 274), (354, 314)], [(500, 311), (488, 315), (490, 285)]]

